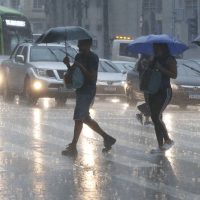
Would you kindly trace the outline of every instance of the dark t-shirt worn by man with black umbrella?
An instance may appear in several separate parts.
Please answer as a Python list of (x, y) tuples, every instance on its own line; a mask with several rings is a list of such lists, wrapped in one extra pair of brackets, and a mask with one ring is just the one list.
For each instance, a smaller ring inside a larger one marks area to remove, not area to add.
[(98, 73), (98, 65), (99, 65), (99, 57), (90, 52), (87, 56), (82, 53), (78, 53), (75, 57), (75, 61), (82, 64), (88, 71), (96, 72), (95, 79), (88, 80), (85, 77), (84, 84), (81, 88), (77, 89), (77, 94), (92, 94), (96, 92), (96, 82), (97, 82), (97, 73)]

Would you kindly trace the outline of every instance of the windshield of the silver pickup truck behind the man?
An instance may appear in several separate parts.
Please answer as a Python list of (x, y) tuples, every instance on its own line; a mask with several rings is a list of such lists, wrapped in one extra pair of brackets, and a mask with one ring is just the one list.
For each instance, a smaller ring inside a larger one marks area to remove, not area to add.
[[(62, 62), (66, 55), (64, 46), (33, 46), (30, 51), (31, 62)], [(77, 52), (74, 48), (68, 46), (67, 53), (70, 55), (69, 59), (72, 62)]]

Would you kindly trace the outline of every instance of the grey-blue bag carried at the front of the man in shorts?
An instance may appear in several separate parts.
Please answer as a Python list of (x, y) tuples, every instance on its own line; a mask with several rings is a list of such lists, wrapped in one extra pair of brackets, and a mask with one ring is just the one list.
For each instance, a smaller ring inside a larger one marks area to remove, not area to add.
[(68, 69), (64, 75), (64, 83), (67, 89), (79, 89), (84, 84), (84, 76), (79, 67)]

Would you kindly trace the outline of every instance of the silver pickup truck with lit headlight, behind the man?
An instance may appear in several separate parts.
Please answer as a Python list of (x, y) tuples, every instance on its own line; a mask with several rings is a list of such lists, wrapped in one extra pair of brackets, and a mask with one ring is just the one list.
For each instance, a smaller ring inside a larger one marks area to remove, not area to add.
[[(75, 57), (76, 50), (67, 47), (67, 52)], [(63, 58), (65, 46), (59, 44), (23, 43), (18, 45), (8, 60), (2, 62), (3, 99), (13, 100), (21, 95), (35, 104), (38, 98), (55, 98), (57, 103), (64, 104), (72, 94), (64, 89), (63, 75), (67, 71)]]

